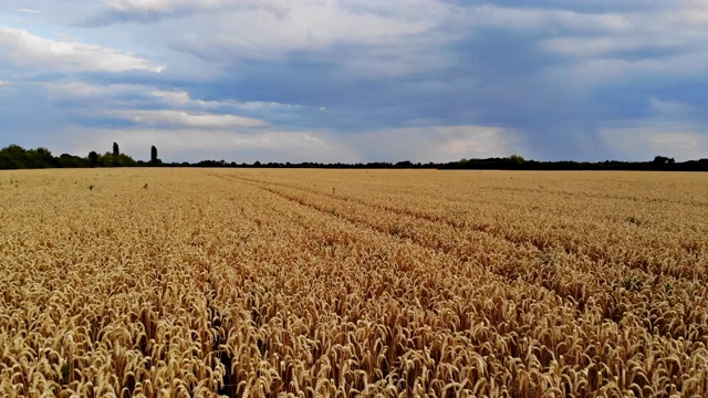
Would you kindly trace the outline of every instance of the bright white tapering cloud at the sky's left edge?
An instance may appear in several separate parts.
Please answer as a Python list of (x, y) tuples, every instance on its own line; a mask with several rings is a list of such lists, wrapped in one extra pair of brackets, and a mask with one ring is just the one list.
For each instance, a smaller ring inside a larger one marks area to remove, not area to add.
[(20, 65), (59, 71), (162, 72), (165, 67), (138, 56), (105, 46), (54, 41), (25, 30), (0, 28), (0, 54), (3, 48)]

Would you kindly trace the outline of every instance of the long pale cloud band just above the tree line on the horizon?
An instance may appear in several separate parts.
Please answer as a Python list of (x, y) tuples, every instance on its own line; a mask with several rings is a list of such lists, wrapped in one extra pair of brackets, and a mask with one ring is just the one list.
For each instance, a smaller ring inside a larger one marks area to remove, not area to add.
[[(67, 127), (51, 144), (56, 153), (85, 156), (96, 148), (108, 150), (113, 142), (136, 159), (148, 157), (156, 145), (167, 161), (205, 159), (236, 163), (260, 160), (279, 163), (367, 163), (367, 161), (451, 161), (523, 153), (514, 134), (496, 127), (438, 126), (398, 128), (341, 135), (329, 130), (283, 132), (277, 129), (106, 129)], [(406, 145), (400, 145), (405, 142)]]

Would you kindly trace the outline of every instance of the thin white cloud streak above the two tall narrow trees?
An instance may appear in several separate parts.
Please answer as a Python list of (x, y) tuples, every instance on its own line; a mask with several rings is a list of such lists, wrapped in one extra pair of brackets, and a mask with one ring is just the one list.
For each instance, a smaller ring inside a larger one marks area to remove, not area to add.
[(263, 127), (266, 122), (236, 115), (187, 113), (181, 111), (107, 111), (106, 115), (125, 118), (143, 125), (170, 125), (181, 127), (229, 128)]

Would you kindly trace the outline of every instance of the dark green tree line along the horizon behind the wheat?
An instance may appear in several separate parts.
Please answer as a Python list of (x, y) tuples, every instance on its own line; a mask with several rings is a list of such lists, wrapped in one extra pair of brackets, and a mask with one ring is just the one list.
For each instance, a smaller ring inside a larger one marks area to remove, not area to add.
[(9, 145), (0, 149), (0, 169), (27, 168), (83, 168), (83, 167), (261, 167), (261, 168), (339, 168), (339, 169), (441, 169), (441, 170), (662, 170), (662, 171), (708, 171), (708, 158), (676, 161), (666, 156), (655, 156), (649, 161), (538, 161), (525, 160), (519, 155), (486, 159), (460, 159), (449, 163), (356, 163), (356, 164), (321, 164), (321, 163), (260, 163), (237, 164), (226, 160), (201, 160), (198, 163), (164, 164), (157, 157), (157, 148), (150, 147), (150, 160), (134, 160), (122, 154), (118, 144), (113, 143), (113, 150), (101, 155), (91, 151), (86, 157), (62, 154), (58, 157), (46, 148), (24, 149), (19, 145)]

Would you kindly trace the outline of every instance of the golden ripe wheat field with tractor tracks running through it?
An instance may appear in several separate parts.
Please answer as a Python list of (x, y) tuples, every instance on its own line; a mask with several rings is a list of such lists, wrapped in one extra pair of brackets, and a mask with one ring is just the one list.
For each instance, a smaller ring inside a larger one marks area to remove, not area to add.
[(0, 396), (706, 397), (708, 175), (0, 172)]

